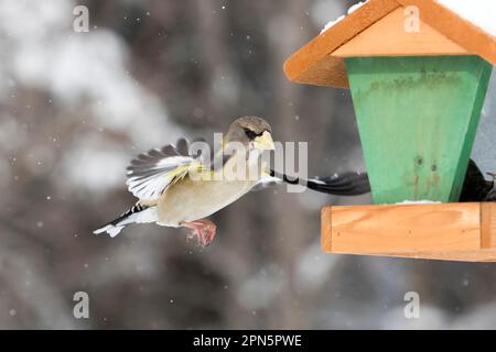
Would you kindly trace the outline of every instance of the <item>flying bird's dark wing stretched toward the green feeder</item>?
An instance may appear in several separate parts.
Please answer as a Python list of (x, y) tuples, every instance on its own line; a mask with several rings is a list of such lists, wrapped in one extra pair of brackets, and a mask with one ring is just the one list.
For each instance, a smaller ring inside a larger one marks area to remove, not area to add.
[(336, 196), (358, 196), (370, 191), (367, 173), (344, 173), (331, 177), (320, 177), (304, 179), (300, 177), (289, 177), (283, 173), (268, 169), (254, 189), (265, 188), (274, 184), (287, 183), (291, 185), (302, 185), (309, 189)]

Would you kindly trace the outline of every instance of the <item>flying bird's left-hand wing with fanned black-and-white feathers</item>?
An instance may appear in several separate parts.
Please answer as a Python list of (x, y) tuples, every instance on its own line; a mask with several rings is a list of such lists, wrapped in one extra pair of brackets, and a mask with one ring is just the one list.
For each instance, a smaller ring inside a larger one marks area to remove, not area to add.
[(175, 145), (169, 144), (138, 155), (127, 167), (128, 189), (142, 200), (155, 200), (175, 182), (182, 179), (193, 168), (202, 168), (200, 156), (188, 154), (188, 143), (181, 139)]

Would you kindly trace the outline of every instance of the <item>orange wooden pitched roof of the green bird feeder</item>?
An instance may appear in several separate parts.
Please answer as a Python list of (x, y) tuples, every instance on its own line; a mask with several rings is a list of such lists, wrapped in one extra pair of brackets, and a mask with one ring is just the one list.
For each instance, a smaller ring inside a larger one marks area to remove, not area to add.
[[(387, 31), (409, 6), (419, 8), (424, 29), (414, 40)], [(347, 88), (344, 57), (401, 54), (474, 54), (496, 65), (496, 37), (434, 0), (369, 0), (291, 55), (284, 73), (295, 82)]]

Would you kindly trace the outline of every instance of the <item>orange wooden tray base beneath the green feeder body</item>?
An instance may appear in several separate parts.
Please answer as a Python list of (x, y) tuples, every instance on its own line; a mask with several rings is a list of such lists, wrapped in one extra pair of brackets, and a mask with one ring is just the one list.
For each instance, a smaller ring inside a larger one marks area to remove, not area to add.
[(328, 253), (496, 262), (496, 204), (324, 207)]

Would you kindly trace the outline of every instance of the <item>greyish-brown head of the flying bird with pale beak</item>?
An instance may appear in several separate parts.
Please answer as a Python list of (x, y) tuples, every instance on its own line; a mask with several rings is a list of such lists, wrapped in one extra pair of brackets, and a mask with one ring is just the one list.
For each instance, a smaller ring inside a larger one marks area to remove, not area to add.
[(242, 143), (249, 151), (273, 151), (276, 148), (270, 124), (257, 117), (236, 119), (229, 127), (224, 145), (229, 142)]

